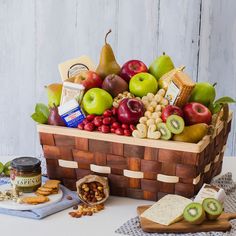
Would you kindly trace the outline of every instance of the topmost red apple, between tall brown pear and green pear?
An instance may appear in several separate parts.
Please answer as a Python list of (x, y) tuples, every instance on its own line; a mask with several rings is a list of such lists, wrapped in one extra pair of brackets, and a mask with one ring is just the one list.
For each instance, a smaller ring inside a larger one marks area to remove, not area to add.
[(121, 68), (120, 76), (126, 80), (127, 82), (130, 81), (131, 77), (140, 73), (140, 72), (147, 72), (147, 66), (139, 60), (131, 60), (127, 61)]

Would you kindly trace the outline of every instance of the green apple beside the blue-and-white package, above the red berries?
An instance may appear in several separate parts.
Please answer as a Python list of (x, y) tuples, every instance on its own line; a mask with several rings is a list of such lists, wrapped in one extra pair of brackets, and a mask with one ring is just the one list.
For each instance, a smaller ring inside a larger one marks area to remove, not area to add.
[(89, 89), (82, 100), (84, 110), (88, 114), (101, 115), (112, 107), (113, 98), (105, 90), (100, 88)]

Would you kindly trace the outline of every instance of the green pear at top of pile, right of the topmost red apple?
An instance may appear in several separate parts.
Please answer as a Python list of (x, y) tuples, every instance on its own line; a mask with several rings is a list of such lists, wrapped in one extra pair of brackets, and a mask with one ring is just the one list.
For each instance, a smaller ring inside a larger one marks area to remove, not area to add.
[(174, 69), (171, 58), (163, 52), (163, 55), (156, 58), (149, 67), (149, 72), (154, 75), (157, 81), (167, 72)]

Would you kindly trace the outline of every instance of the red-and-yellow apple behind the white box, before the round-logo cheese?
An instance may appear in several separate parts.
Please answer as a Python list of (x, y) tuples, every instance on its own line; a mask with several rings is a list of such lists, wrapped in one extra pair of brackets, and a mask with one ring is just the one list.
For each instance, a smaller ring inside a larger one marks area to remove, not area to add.
[(82, 84), (86, 91), (91, 88), (101, 88), (102, 82), (99, 75), (93, 71), (82, 71), (74, 77), (74, 83)]

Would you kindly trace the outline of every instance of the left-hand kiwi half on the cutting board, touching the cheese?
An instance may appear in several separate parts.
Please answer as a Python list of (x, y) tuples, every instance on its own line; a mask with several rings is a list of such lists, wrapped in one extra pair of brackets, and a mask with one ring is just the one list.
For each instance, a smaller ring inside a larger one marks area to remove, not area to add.
[(192, 202), (184, 209), (184, 219), (191, 224), (201, 224), (205, 220), (205, 211), (200, 203)]

